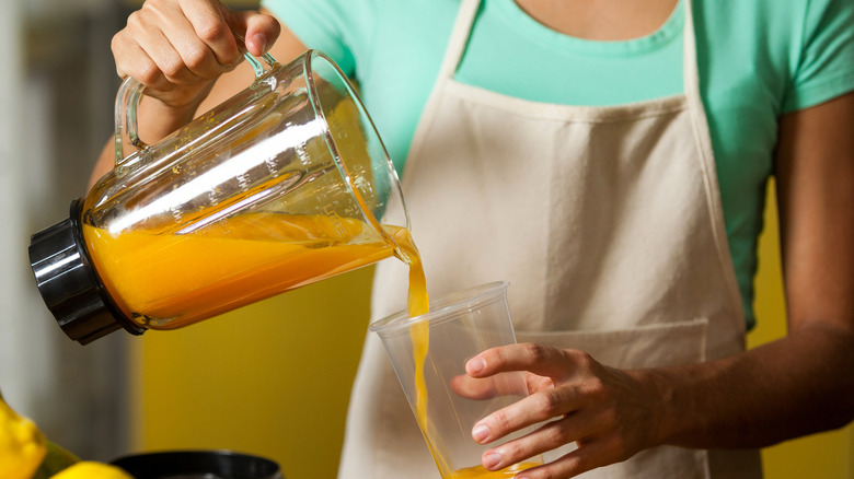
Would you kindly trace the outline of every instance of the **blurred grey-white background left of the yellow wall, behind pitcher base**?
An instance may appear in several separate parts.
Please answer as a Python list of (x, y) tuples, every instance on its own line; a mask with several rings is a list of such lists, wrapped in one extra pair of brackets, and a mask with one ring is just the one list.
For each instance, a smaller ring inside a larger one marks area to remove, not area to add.
[(85, 194), (112, 131), (117, 86), (111, 0), (5, 0), (0, 14), (0, 388), (53, 441), (81, 457), (126, 452), (126, 339), (82, 347), (42, 303), (30, 235)]

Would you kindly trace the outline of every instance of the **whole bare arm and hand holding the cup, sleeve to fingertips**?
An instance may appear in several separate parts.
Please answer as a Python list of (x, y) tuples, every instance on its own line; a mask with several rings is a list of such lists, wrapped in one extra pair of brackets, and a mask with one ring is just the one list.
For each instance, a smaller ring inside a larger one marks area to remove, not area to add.
[(787, 337), (718, 361), (643, 371), (536, 344), (486, 351), (469, 362), (470, 375), (528, 371), (535, 394), (480, 421), (473, 436), (489, 443), (551, 422), (487, 452), (484, 465), (497, 469), (577, 442), (577, 451), (526, 472), (568, 478), (660, 444), (760, 447), (854, 419), (852, 125), (854, 93), (781, 121)]

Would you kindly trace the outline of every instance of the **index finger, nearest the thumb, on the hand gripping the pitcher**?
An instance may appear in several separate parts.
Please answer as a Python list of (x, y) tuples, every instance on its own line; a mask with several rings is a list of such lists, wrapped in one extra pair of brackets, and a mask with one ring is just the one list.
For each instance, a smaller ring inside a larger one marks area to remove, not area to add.
[(240, 48), (228, 21), (230, 10), (218, 1), (181, 2), (183, 16), (220, 66), (230, 66), (241, 59)]

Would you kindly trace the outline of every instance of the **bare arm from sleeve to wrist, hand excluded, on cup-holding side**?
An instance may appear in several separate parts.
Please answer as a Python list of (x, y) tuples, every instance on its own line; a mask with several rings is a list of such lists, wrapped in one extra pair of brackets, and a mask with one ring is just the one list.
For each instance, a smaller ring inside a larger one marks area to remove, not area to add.
[(782, 119), (776, 177), (789, 334), (674, 371), (676, 387), (665, 390), (694, 420), (684, 428), (684, 418), (671, 418), (667, 442), (766, 446), (854, 418), (852, 125), (854, 94)]

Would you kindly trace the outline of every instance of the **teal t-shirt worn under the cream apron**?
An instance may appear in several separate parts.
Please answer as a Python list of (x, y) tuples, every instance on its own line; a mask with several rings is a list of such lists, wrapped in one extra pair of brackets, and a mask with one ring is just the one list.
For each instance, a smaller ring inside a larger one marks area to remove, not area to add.
[[(684, 2), (651, 35), (596, 42), (482, 0), (457, 80), (535, 102), (616, 105), (683, 91)], [(402, 174), (460, 0), (263, 0), (356, 79)], [(854, 2), (694, 0), (701, 95), (748, 328), (781, 115), (854, 91)]]

